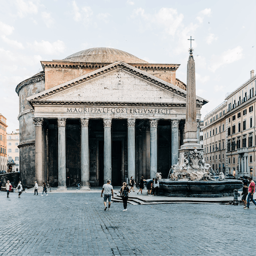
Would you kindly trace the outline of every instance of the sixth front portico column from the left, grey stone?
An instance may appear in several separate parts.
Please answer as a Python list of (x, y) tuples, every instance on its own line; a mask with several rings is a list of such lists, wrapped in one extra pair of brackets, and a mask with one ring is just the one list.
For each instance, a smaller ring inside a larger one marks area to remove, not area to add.
[(150, 120), (150, 178), (157, 173), (157, 120)]

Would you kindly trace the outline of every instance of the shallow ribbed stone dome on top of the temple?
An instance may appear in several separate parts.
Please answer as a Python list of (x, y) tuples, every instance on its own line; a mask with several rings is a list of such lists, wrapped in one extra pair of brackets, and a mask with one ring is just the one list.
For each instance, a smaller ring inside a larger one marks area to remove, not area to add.
[(64, 60), (90, 63), (113, 63), (115, 61), (123, 61), (125, 63), (148, 63), (130, 53), (107, 47), (97, 47), (77, 52), (69, 55)]

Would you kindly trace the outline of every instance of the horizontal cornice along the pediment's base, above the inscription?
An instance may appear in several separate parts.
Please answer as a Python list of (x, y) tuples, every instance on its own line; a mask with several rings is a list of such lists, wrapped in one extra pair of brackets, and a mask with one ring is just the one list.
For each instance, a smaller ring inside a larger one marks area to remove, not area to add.
[[(120, 106), (120, 107), (171, 107), (171, 108), (186, 108), (186, 103), (143, 103), (143, 102), (85, 102), (85, 101), (36, 101), (31, 100), (31, 105), (34, 106)], [(196, 105), (201, 108), (201, 104)]]

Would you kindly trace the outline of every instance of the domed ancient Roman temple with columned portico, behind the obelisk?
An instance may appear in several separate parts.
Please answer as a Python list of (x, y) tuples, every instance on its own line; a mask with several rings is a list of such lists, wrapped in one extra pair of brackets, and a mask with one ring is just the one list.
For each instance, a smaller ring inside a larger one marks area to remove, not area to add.
[[(41, 64), (43, 71), (16, 88), (25, 186), (37, 180), (88, 189), (108, 179), (120, 186), (156, 172), (167, 178), (186, 118), (186, 84), (175, 75), (180, 65), (103, 47)], [(197, 97), (198, 121), (205, 103)]]

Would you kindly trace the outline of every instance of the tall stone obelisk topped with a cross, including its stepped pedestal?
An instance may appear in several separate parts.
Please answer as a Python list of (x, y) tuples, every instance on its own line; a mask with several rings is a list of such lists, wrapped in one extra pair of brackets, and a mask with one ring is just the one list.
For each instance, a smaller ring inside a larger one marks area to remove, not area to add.
[(196, 118), (196, 76), (195, 76), (195, 61), (193, 58), (193, 49), (191, 48), (190, 36), (190, 51), (187, 66), (187, 101), (186, 101), (186, 122), (185, 122), (185, 140), (181, 149), (185, 148), (202, 148), (197, 139), (197, 118)]

